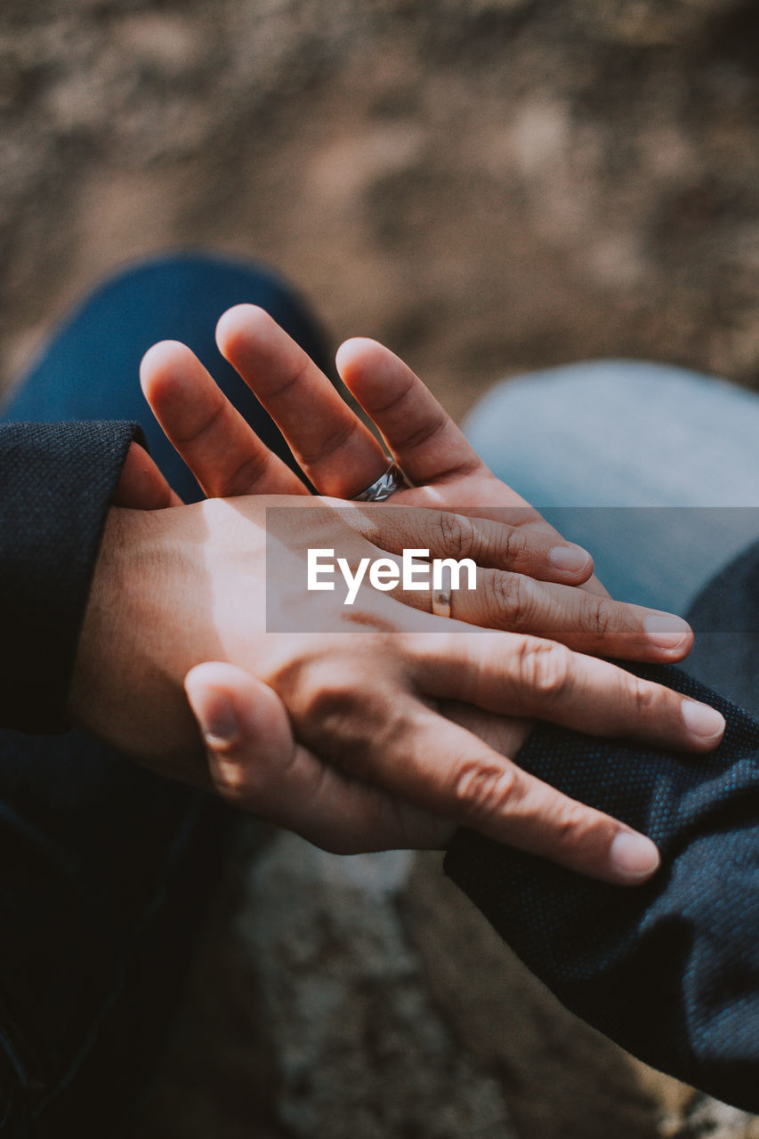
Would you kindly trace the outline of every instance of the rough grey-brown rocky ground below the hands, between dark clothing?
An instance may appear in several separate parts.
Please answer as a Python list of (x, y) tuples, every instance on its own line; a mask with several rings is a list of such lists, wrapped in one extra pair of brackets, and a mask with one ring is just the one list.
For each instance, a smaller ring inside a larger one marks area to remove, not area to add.
[(140, 1139), (759, 1139), (563, 1009), (440, 857), (244, 853)]

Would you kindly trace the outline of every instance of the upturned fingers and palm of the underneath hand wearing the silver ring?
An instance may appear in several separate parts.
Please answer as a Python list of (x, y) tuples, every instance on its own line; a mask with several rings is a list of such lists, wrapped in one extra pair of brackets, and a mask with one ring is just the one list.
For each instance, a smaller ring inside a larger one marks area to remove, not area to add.
[[(384, 445), (263, 310), (230, 309), (219, 321), (217, 339), (320, 494), (354, 498), (382, 474), (390, 451), (413, 484), (393, 495), (393, 505), (553, 533), (537, 510), (491, 474), (410, 368), (375, 341), (348, 341), (337, 352), (337, 368)], [(141, 378), (163, 429), (207, 495), (308, 493), (189, 349), (156, 345)], [(605, 592), (595, 579), (585, 588)]]

